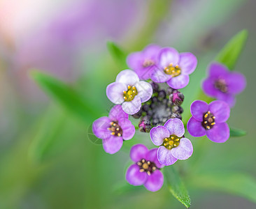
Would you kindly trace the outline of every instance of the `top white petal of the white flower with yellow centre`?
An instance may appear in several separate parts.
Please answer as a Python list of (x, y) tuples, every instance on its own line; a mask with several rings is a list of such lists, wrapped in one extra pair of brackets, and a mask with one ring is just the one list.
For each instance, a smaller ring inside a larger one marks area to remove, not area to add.
[(125, 84), (126, 86), (134, 86), (138, 81), (138, 75), (132, 70), (122, 70), (115, 79), (115, 82)]

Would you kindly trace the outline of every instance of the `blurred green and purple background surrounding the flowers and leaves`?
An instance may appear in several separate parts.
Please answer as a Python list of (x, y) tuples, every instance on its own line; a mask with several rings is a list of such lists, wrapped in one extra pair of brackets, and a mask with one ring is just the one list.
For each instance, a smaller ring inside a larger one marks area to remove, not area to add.
[[(115, 155), (92, 135), (92, 121), (112, 105), (106, 86), (123, 70), (108, 52), (108, 40), (127, 53), (155, 42), (196, 54), (199, 65), (184, 89), (186, 100), (222, 46), (248, 29), (235, 68), (248, 85), (229, 118), (229, 125), (248, 134), (225, 144), (191, 138), (194, 154), (175, 166), (188, 173), (225, 169), (255, 177), (255, 9), (254, 0), (1, 0), (0, 208), (184, 208), (166, 185), (152, 193), (125, 183), (129, 148), (140, 142), (152, 148), (148, 134), (136, 133)], [(98, 115), (87, 121), (73, 116), (35, 84), (33, 68), (68, 83)], [(184, 178), (191, 208), (256, 207)]]

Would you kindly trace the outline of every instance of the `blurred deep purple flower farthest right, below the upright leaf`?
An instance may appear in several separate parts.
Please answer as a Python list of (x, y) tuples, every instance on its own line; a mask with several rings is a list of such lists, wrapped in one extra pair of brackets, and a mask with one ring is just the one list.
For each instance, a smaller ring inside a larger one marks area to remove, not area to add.
[(208, 78), (202, 84), (206, 95), (218, 98), (233, 107), (235, 95), (246, 88), (246, 77), (239, 72), (230, 72), (225, 65), (211, 63), (208, 68)]

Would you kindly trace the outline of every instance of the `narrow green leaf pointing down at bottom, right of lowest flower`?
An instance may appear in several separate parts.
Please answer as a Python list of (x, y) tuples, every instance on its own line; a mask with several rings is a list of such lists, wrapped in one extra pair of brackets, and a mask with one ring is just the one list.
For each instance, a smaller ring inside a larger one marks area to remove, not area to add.
[(176, 169), (174, 169), (173, 166), (164, 167), (164, 177), (167, 180), (171, 194), (173, 194), (180, 203), (183, 203), (186, 208), (190, 208), (190, 196)]

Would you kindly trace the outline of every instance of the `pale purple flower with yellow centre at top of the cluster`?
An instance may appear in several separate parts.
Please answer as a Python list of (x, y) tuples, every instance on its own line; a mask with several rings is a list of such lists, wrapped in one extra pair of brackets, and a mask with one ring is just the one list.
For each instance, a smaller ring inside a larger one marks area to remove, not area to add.
[(178, 53), (166, 47), (158, 55), (159, 69), (152, 73), (151, 79), (157, 83), (166, 82), (171, 88), (184, 88), (190, 82), (189, 75), (197, 67), (197, 58), (190, 52)]

